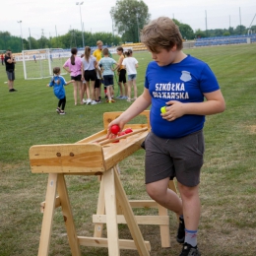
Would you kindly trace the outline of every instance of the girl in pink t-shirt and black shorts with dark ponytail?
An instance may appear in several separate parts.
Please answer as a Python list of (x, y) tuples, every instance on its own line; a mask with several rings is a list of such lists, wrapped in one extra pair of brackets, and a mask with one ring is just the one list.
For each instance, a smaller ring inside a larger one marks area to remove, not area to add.
[(84, 104), (83, 102), (83, 83), (82, 83), (82, 60), (80, 57), (77, 56), (78, 49), (72, 48), (71, 49), (71, 57), (64, 63), (63, 68), (70, 73), (71, 79), (74, 81), (74, 99), (75, 105), (77, 105), (77, 97), (78, 97), (78, 90), (79, 90), (79, 97), (80, 103)]

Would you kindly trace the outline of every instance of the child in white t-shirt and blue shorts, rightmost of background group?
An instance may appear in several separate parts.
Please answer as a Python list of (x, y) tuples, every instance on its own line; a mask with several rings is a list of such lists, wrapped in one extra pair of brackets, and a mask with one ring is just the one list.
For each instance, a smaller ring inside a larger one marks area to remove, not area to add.
[(131, 101), (131, 90), (133, 86), (134, 98), (136, 99), (138, 96), (137, 86), (136, 86), (136, 76), (137, 76), (137, 68), (138, 68), (138, 60), (133, 57), (133, 51), (128, 49), (125, 53), (126, 58), (124, 58), (122, 65), (126, 68), (128, 75), (128, 90), (127, 90), (127, 101)]

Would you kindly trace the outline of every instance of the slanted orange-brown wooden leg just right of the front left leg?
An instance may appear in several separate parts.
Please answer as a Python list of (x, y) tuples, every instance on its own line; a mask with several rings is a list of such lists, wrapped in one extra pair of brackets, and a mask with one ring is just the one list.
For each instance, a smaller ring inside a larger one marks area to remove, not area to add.
[(68, 197), (67, 186), (64, 178), (64, 174), (58, 174), (58, 194), (61, 202), (61, 210), (63, 219), (67, 228), (67, 235), (69, 239), (69, 246), (73, 256), (81, 256), (81, 250), (77, 237), (77, 231), (74, 224), (71, 205)]

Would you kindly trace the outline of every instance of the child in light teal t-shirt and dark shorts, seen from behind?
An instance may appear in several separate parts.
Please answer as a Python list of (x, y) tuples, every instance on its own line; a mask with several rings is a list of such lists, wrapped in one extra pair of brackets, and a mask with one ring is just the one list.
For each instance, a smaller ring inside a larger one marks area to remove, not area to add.
[(112, 98), (112, 96), (113, 96), (113, 75), (114, 75), (114, 68), (112, 68), (112, 65), (117, 65), (117, 63), (114, 59), (109, 57), (109, 51), (107, 48), (103, 49), (103, 56), (104, 57), (98, 61), (96, 68), (100, 67), (102, 70), (104, 86), (106, 87), (106, 95), (107, 95), (106, 101), (108, 103), (112, 103), (115, 101)]

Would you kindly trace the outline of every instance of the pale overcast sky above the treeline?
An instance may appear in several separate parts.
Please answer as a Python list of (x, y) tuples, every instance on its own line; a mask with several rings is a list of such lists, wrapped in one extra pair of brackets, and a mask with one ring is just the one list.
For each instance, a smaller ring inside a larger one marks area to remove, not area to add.
[[(81, 3), (80, 1), (79, 3)], [(152, 19), (175, 18), (193, 31), (228, 29), (229, 25), (249, 27), (256, 14), (256, 0), (144, 0)], [(70, 29), (86, 32), (112, 32), (110, 8), (116, 0), (5, 0), (1, 1), (0, 31), (24, 38), (65, 34)], [(207, 19), (206, 19), (207, 17)], [(22, 23), (18, 23), (22, 21)], [(136, 21), (135, 21), (136, 22)], [(256, 18), (252, 25), (256, 25)]]

